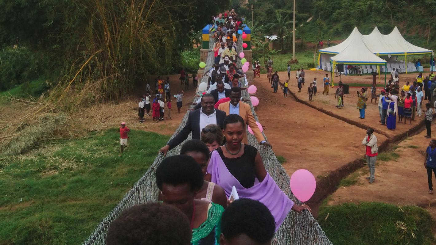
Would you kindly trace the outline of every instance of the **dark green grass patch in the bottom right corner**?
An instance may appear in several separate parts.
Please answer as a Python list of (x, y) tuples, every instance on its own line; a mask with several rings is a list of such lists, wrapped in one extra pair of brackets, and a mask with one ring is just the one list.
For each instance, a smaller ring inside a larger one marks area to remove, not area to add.
[(415, 206), (384, 203), (322, 205), (318, 222), (334, 245), (432, 244), (430, 214)]

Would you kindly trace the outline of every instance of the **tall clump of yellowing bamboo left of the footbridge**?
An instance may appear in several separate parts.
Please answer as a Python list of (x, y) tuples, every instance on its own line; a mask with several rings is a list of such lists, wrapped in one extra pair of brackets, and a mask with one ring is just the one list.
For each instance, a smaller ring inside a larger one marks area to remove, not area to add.
[(189, 9), (187, 5), (157, 0), (73, 1), (89, 10), (89, 23), (77, 52), (71, 54), (71, 68), (51, 91), (50, 103), (75, 111), (116, 100), (129, 93), (138, 77), (172, 67), (178, 54), (172, 16), (174, 10)]

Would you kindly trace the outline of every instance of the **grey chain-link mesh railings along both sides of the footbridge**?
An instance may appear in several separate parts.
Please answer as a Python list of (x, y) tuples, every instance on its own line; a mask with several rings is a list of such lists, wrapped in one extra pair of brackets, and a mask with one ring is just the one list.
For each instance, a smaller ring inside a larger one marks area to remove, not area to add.
[[(211, 38), (209, 44), (209, 50), (213, 48), (214, 41)], [(238, 45), (237, 45), (238, 53), (242, 51), (242, 37), (239, 37)], [(208, 58), (206, 61), (206, 67), (204, 67), (204, 75), (201, 79), (201, 82), (208, 82), (208, 77), (205, 74), (208, 73), (208, 70), (212, 67), (214, 63), (214, 52), (208, 53)], [(241, 66), (241, 61), (238, 61), (238, 67)], [(246, 80), (245, 77), (240, 78), (241, 84), (245, 86)], [(245, 91), (242, 92), (242, 97), (244, 99), (249, 99), (249, 94)], [(195, 98), (194, 98), (195, 101)], [(251, 102), (249, 102), (251, 106), (251, 110), (253, 116), (256, 121), (259, 121), (259, 118), (254, 111), (254, 107)], [(183, 117), (179, 128), (174, 132), (171, 138), (174, 138), (185, 126), (188, 118), (188, 112)], [(263, 134), (263, 133), (262, 133)], [(263, 134), (265, 139), (266, 136)], [(189, 134), (187, 140), (190, 140), (192, 135)], [(282, 189), (286, 195), (288, 195), (292, 201), (296, 204), (300, 204), (295, 196), (292, 194), (290, 190), (290, 178), (286, 174), (285, 169), (279, 163), (276, 158), (276, 155), (271, 150), (271, 148), (265, 148), (258, 144), (254, 135), (248, 133), (249, 144), (255, 146), (259, 153), (262, 155), (263, 163), (265, 164), (266, 171), (268, 171), (269, 175), (276, 181), (277, 185)], [(167, 156), (177, 155), (180, 152), (182, 144), (179, 144), (176, 148), (172, 149), (168, 152)], [(156, 185), (155, 171), (160, 162), (164, 159), (163, 154), (159, 153), (154, 160), (153, 164), (146, 171), (145, 175), (143, 175), (138, 182), (133, 185), (133, 188), (127, 192), (124, 198), (119, 202), (118, 205), (102, 220), (102, 222), (94, 229), (92, 235), (84, 242), (85, 245), (105, 245), (106, 241), (106, 233), (109, 229), (110, 223), (115, 220), (118, 215), (133, 205), (138, 205), (147, 201), (157, 201), (157, 195), (159, 189)], [(312, 214), (309, 211), (303, 211), (298, 214), (295, 211), (290, 211), (286, 219), (283, 221), (279, 230), (274, 235), (273, 245), (290, 245), (290, 244), (305, 244), (305, 245), (326, 245), (331, 244), (328, 240), (327, 236), (320, 228), (317, 221), (313, 218)]]

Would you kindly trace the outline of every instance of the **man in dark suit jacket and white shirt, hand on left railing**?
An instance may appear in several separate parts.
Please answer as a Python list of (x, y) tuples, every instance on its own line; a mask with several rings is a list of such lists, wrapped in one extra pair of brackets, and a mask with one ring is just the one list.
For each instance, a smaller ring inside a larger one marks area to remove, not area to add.
[(201, 130), (208, 124), (218, 124), (222, 128), (222, 124), (226, 114), (224, 111), (220, 111), (214, 108), (215, 100), (211, 94), (204, 94), (201, 97), (201, 108), (189, 113), (188, 121), (185, 127), (168, 141), (167, 145), (160, 148), (160, 152), (165, 155), (169, 150), (181, 144), (192, 132), (193, 139), (201, 138)]

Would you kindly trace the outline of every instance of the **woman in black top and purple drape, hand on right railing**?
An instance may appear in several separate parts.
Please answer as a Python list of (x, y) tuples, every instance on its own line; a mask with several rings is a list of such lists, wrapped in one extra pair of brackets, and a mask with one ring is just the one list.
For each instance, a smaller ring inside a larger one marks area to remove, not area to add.
[(276, 221), (276, 230), (292, 209), (301, 212), (307, 205), (296, 205), (277, 186), (266, 171), (256, 148), (243, 144), (245, 123), (238, 114), (230, 114), (223, 122), (226, 143), (212, 152), (205, 179), (221, 186), (229, 197), (235, 186), (239, 198), (262, 202)]

